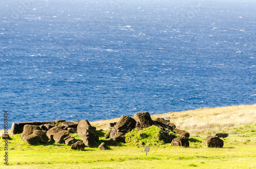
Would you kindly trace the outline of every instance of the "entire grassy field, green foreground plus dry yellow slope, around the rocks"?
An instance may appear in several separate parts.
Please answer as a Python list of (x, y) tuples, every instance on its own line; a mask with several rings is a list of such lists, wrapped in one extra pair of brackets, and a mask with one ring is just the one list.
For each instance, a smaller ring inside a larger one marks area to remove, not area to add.
[[(256, 105), (242, 105), (184, 112), (169, 112), (167, 115), (177, 128), (190, 132), (196, 142), (190, 148), (171, 147), (170, 143), (151, 146), (147, 155), (144, 147), (122, 143), (111, 150), (85, 148), (74, 151), (66, 144), (49, 142), (30, 146), (21, 140), (21, 134), (9, 140), (9, 165), (2, 160), (0, 168), (256, 168)], [(116, 119), (92, 122), (98, 129), (106, 129)], [(224, 138), (223, 148), (206, 148), (204, 139), (216, 132), (230, 135)], [(104, 141), (100, 135), (99, 145)], [(77, 134), (72, 134), (81, 140)], [(4, 142), (0, 147), (4, 159)]]

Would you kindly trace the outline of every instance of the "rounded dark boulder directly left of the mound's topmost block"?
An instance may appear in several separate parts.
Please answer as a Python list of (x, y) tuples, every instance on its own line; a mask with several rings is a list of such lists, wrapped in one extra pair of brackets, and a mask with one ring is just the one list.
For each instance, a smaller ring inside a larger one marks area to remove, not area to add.
[(115, 128), (117, 132), (127, 133), (135, 128), (136, 121), (130, 116), (122, 115), (116, 123)]

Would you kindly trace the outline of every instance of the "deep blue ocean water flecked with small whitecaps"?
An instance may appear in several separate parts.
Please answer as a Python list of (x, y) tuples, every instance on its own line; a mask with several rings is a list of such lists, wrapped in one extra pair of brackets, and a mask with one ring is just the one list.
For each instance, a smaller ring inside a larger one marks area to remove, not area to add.
[(256, 103), (255, 1), (10, 0), (0, 9), (9, 123)]

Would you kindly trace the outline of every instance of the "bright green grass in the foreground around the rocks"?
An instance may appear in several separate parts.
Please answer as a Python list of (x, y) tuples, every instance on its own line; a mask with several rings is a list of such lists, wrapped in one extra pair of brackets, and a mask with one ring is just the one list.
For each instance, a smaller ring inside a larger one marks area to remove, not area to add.
[[(146, 134), (155, 129), (143, 130)], [(247, 131), (245, 128), (244, 131)], [(105, 141), (104, 133), (97, 131), (100, 141)], [(241, 131), (240, 131), (241, 132)], [(80, 139), (77, 134), (71, 134)], [(66, 144), (55, 142), (30, 146), (16, 134), (9, 140), (9, 166), (2, 162), (0, 168), (255, 168), (256, 137), (232, 136), (224, 140), (224, 147), (206, 148), (205, 137), (192, 137), (190, 148), (171, 147), (170, 143), (150, 146), (145, 155), (144, 146), (131, 146), (129, 143), (111, 146), (111, 150), (86, 147), (84, 151), (74, 151)], [(153, 139), (153, 141), (155, 141)], [(150, 142), (150, 141), (149, 141)], [(3, 155), (4, 142), (0, 152)], [(17, 165), (20, 163), (20, 165)]]

